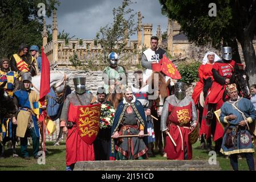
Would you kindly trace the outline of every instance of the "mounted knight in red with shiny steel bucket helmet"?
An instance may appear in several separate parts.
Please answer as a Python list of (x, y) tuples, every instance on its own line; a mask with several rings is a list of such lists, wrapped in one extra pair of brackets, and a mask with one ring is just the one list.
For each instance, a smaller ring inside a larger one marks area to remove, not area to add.
[[(220, 152), (221, 138), (224, 130), (220, 123), (214, 117), (214, 111), (220, 109), (220, 107), (227, 100), (226, 85), (233, 84), (235, 82), (235, 75), (238, 74), (239, 68), (237, 63), (232, 60), (231, 47), (221, 48), (221, 59), (216, 61), (213, 65), (213, 84), (208, 92), (208, 96), (205, 98), (205, 108), (203, 112), (202, 122), (206, 123), (205, 134), (206, 138), (209, 138), (211, 133), (210, 129), (213, 128), (213, 140), (216, 142), (215, 150)], [(207, 109), (208, 107), (208, 109)]]

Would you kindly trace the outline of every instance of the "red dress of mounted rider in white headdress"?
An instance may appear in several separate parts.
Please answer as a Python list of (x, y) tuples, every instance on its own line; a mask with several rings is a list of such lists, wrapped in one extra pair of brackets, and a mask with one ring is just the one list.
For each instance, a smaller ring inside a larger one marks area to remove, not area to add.
[(212, 69), (213, 69), (213, 64), (201, 64), (200, 67), (198, 68), (199, 81), (194, 87), (194, 92), (192, 94), (192, 99), (194, 101), (194, 104), (196, 105), (198, 103), (200, 93), (202, 92), (202, 88), (204, 87), (203, 79), (206, 80), (207, 78), (211, 77), (213, 80)]

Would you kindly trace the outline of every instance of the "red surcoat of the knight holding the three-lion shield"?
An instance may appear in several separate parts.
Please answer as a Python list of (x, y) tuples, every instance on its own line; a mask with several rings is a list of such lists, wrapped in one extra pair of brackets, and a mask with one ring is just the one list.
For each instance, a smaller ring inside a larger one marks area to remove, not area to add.
[(68, 121), (74, 122), (71, 129), (68, 129), (66, 140), (66, 165), (70, 166), (79, 161), (95, 160), (94, 144), (87, 144), (78, 134), (77, 119), (78, 106), (72, 105), (68, 109)]

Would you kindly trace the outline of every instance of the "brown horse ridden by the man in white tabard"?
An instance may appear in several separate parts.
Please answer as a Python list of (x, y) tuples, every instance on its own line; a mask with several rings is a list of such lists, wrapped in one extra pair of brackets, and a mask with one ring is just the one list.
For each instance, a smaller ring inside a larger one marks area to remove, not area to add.
[(169, 96), (168, 85), (170, 84), (170, 79), (166, 82), (165, 77), (161, 72), (153, 72), (151, 77), (148, 79), (149, 93), (152, 93), (152, 97), (149, 96), (149, 100), (153, 100), (153, 106), (151, 108), (151, 114), (158, 119), (153, 119), (154, 131), (155, 131), (155, 149), (159, 150), (161, 155), (164, 155), (164, 146), (162, 143), (162, 138), (164, 138), (165, 144), (165, 134), (160, 130), (161, 123), (161, 111), (164, 106), (164, 101), (166, 97)]

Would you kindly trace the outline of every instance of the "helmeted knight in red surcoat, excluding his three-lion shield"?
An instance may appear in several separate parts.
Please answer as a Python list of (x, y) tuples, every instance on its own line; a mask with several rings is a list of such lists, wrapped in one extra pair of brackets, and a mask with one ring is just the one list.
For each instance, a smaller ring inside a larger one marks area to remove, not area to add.
[[(67, 134), (66, 141), (66, 170), (72, 171), (75, 163), (79, 161), (95, 160), (94, 144), (84, 142), (79, 135), (80, 126), (78, 106), (88, 106), (94, 104), (96, 98), (86, 89), (86, 78), (73, 78), (75, 92), (69, 94), (64, 101), (62, 114), (60, 115), (60, 127), (63, 133)], [(89, 122), (89, 121), (88, 121)], [(88, 130), (88, 128), (87, 128)]]

